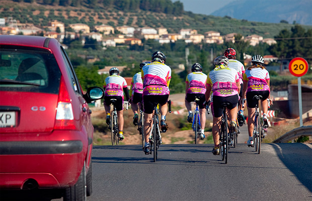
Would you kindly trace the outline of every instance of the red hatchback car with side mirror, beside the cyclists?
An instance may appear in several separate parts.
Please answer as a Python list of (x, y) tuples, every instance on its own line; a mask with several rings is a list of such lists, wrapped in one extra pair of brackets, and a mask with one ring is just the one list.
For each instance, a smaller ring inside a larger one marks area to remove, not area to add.
[(40, 36), (0, 35), (0, 190), (56, 189), (64, 200), (92, 193), (93, 125), (88, 103), (61, 44)]

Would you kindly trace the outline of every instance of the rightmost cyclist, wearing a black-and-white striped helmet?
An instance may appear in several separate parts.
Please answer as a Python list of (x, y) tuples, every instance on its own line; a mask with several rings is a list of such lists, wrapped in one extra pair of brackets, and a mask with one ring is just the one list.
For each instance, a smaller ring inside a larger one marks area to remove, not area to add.
[[(263, 127), (268, 127), (267, 111), (268, 111), (268, 101), (273, 104), (270, 98), (270, 75), (265, 69), (264, 59), (261, 55), (255, 55), (251, 59), (252, 66), (250, 66), (244, 74), (244, 87), (243, 87), (243, 98), (247, 99), (247, 109), (248, 109), (248, 134), (249, 139), (247, 142), (248, 146), (253, 146), (253, 130), (254, 130), (254, 118), (256, 111), (257, 100), (254, 99), (255, 95), (261, 95), (261, 106), (263, 109)], [(246, 93), (247, 92), (247, 93)]]

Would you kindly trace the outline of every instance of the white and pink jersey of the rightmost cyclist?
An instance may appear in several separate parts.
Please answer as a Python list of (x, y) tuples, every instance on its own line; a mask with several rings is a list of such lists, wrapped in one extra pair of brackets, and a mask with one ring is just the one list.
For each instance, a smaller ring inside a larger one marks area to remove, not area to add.
[(262, 68), (246, 70), (243, 78), (244, 82), (248, 82), (247, 92), (270, 91), (267, 80), (270, 80), (269, 72)]

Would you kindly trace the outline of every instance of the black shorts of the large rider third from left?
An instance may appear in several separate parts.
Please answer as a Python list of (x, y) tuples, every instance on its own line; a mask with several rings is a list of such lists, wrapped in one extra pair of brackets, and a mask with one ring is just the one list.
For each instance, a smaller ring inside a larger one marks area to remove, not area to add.
[(146, 114), (153, 113), (154, 106), (157, 104), (164, 105), (167, 103), (168, 95), (145, 95), (143, 96), (144, 112)]

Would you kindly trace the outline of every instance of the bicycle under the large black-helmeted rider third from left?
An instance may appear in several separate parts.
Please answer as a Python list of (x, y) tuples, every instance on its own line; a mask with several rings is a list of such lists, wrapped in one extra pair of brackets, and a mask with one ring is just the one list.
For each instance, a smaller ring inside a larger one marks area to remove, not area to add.
[[(169, 104), (169, 113), (171, 113), (171, 100), (168, 101)], [(162, 135), (161, 135), (161, 130), (160, 130), (160, 126), (159, 126), (159, 111), (158, 111), (158, 105), (154, 106), (154, 112), (153, 112), (153, 116), (151, 118), (151, 129), (150, 129), (150, 133), (149, 133), (149, 143), (150, 143), (150, 147), (152, 147), (152, 149), (150, 149), (149, 154), (151, 154), (151, 150), (153, 150), (153, 158), (154, 158), (154, 162), (156, 162), (157, 157), (158, 157), (158, 149), (159, 146), (162, 144)]]

